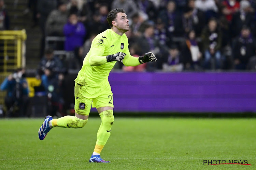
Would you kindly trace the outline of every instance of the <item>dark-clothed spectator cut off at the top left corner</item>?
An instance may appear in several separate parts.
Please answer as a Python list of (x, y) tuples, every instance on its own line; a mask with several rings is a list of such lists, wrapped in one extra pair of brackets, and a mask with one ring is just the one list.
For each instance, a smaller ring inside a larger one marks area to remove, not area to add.
[(4, 0), (0, 0), (0, 30), (10, 30), (10, 18)]

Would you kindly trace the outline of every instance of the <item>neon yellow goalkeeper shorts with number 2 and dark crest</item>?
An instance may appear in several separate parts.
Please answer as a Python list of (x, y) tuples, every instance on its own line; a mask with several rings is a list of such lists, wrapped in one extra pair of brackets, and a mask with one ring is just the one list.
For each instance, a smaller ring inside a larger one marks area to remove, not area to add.
[(113, 104), (113, 93), (110, 85), (95, 88), (75, 83), (75, 113), (89, 115), (91, 107), (104, 107)]

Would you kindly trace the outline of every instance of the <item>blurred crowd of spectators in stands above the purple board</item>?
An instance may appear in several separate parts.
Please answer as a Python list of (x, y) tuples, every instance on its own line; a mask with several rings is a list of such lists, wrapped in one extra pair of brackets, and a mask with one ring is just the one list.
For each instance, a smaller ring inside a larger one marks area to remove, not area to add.
[[(124, 8), (133, 55), (151, 51), (158, 60), (134, 68), (117, 63), (115, 69), (255, 70), (256, 3), (252, 0), (38, 0), (37, 6), (44, 36), (65, 36), (62, 49), (74, 52), (80, 64), (93, 38), (110, 28), (108, 12)], [(43, 51), (44, 39), (41, 43)]]

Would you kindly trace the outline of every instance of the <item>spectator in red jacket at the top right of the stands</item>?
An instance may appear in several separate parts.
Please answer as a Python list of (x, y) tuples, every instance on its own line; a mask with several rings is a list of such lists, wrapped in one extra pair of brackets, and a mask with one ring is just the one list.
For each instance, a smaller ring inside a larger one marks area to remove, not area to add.
[(224, 0), (222, 1), (222, 5), (222, 14), (226, 16), (226, 19), (230, 23), (233, 14), (239, 11), (240, 4), (237, 0)]

